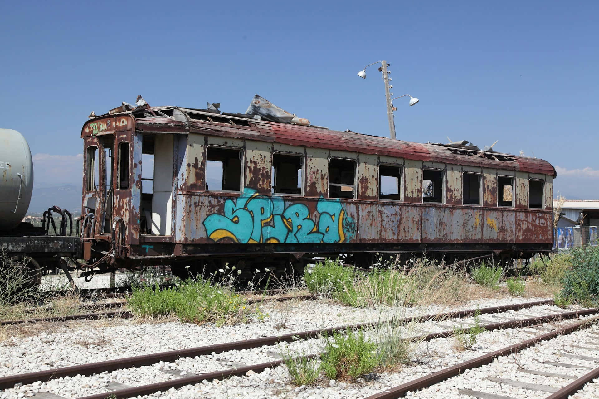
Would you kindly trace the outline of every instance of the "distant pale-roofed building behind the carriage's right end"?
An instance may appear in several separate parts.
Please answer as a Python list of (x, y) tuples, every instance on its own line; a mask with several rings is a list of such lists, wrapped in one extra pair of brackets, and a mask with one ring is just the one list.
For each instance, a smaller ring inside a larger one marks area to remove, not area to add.
[[(556, 205), (557, 200), (553, 201)], [(597, 245), (599, 200), (565, 200), (560, 215), (555, 239), (558, 249)]]

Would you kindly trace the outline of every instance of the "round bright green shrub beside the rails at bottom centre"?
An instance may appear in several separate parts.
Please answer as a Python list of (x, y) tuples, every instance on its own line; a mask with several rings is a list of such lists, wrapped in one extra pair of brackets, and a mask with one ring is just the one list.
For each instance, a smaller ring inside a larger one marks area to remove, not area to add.
[(326, 340), (323, 350), (322, 368), (329, 379), (355, 381), (359, 376), (370, 373), (377, 366), (376, 344), (357, 333), (333, 333)]

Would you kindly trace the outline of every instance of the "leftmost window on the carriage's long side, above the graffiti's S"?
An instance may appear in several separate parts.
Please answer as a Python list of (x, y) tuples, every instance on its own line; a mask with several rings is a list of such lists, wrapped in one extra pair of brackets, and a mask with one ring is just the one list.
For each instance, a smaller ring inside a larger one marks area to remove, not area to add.
[(206, 190), (241, 191), (241, 160), (237, 148), (208, 146), (206, 150)]

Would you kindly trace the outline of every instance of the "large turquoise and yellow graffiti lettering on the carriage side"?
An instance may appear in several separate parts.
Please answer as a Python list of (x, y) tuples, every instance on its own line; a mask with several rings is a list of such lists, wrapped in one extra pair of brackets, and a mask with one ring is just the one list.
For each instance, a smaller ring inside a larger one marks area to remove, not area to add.
[(210, 239), (237, 243), (333, 243), (353, 236), (355, 224), (339, 199), (320, 196), (316, 211), (317, 223), (303, 203), (286, 206), (282, 197), (246, 187), (236, 200), (225, 201), (222, 215), (208, 215), (203, 224)]

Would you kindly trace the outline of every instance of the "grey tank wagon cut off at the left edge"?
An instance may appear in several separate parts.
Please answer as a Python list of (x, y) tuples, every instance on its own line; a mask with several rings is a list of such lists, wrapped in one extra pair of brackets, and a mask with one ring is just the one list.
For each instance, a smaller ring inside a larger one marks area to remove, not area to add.
[[(55, 206), (44, 213), (43, 226), (22, 223), (31, 201), (34, 169), (29, 145), (16, 130), (0, 129), (0, 176), (0, 266), (25, 264), (31, 284), (40, 285), (43, 269), (63, 266), (60, 257), (78, 252), (78, 237), (70, 236), (70, 214)], [(62, 220), (58, 230), (54, 226), (56, 235), (50, 236), (46, 221), (54, 223), (53, 212)]]

